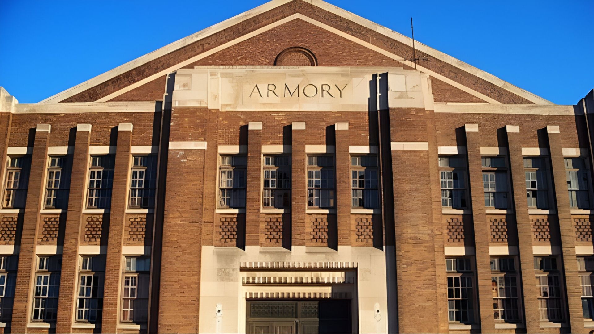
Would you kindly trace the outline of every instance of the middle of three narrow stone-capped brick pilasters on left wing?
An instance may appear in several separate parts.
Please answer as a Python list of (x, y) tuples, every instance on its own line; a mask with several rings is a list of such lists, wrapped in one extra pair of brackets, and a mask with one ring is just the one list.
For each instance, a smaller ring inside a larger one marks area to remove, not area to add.
[(60, 293), (58, 298), (57, 333), (71, 333), (72, 320), (76, 309), (78, 282), (78, 241), (86, 189), (86, 176), (89, 169), (89, 145), (91, 125), (77, 126), (74, 153), (72, 154), (72, 177), (68, 200), (68, 215), (64, 232), (62, 252), (62, 271), (60, 273)]

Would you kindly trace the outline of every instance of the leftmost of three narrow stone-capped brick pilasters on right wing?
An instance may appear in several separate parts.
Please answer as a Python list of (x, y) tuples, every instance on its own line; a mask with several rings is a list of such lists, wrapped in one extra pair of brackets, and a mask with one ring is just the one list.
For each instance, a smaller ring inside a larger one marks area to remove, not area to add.
[(479, 320), (481, 321), (482, 332), (492, 332), (495, 329), (495, 320), (491, 291), (491, 257), (489, 256), (489, 234), (491, 231), (486, 221), (485, 196), (482, 184), (481, 137), (478, 124), (466, 124), (465, 129), (472, 221), (475, 230)]

